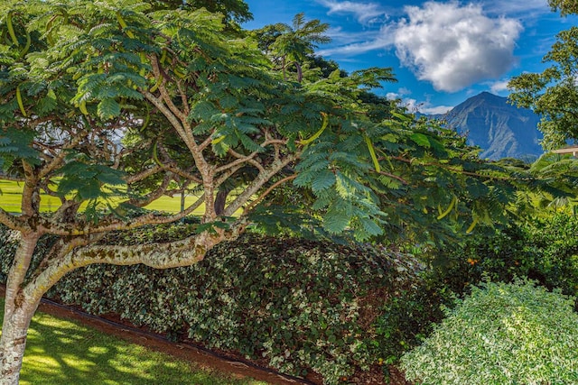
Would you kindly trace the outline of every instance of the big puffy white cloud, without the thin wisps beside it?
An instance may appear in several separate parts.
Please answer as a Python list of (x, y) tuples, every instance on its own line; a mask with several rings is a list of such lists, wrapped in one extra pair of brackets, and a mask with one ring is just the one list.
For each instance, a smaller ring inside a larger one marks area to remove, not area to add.
[(489, 18), (480, 5), (425, 3), (406, 7), (407, 18), (390, 26), (396, 55), (421, 80), (454, 92), (498, 78), (515, 62), (522, 30), (517, 20)]

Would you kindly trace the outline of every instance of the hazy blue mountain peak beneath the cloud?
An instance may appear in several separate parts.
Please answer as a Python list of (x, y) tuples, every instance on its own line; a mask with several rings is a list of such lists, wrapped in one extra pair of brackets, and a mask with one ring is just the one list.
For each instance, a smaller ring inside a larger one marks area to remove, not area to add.
[(542, 133), (537, 129), (540, 116), (509, 105), (507, 100), (482, 92), (435, 117), (445, 120), (458, 133), (467, 134), (468, 143), (482, 149), (480, 158), (534, 160), (544, 152), (539, 144)]

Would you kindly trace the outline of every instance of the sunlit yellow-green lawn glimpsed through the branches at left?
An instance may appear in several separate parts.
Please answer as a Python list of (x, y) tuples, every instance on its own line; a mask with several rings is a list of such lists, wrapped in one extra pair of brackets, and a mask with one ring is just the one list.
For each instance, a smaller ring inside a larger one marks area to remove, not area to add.
[[(0, 179), (0, 207), (8, 212), (19, 213), (20, 204), (22, 197), (23, 184)], [(196, 197), (186, 197), (185, 205), (191, 205), (196, 200)], [(45, 194), (41, 194), (41, 210), (42, 211), (55, 211), (61, 202), (56, 197), (51, 197)], [(151, 205), (145, 208), (151, 210), (166, 211), (169, 213), (178, 213), (181, 210), (181, 197), (160, 197), (155, 200)], [(197, 208), (193, 214), (202, 215), (204, 206)]]

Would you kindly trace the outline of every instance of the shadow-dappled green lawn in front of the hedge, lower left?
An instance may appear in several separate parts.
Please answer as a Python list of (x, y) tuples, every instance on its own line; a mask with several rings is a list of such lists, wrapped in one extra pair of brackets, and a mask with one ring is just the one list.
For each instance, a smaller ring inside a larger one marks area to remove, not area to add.
[[(4, 308), (4, 299), (0, 300)], [(1, 320), (2, 315), (0, 315)], [(191, 362), (130, 344), (77, 322), (33, 317), (21, 385), (266, 385), (232, 379)]]

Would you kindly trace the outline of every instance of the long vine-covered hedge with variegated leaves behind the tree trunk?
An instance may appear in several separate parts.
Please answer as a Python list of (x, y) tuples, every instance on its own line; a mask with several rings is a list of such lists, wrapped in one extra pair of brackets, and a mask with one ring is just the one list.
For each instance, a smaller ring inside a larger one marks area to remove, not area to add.
[[(186, 230), (175, 228), (118, 233), (107, 242), (171, 239)], [(5, 273), (14, 236), (2, 234)], [(79, 269), (49, 297), (92, 314), (117, 313), (174, 338), (266, 359), (294, 375), (316, 371), (333, 384), (378, 362), (376, 322), (383, 305), (415, 280), (415, 270), (408, 257), (371, 246), (247, 234), (219, 244), (188, 268)]]

